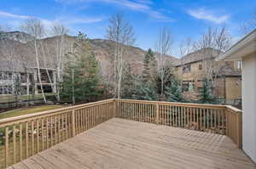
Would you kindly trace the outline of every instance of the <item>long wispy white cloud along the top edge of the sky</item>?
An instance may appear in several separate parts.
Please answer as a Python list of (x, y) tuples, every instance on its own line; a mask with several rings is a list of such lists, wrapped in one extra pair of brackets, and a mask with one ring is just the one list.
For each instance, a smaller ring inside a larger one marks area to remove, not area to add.
[(166, 16), (165, 14), (160, 13), (159, 11), (154, 10), (150, 7), (150, 4), (153, 4), (150, 0), (55, 0), (57, 3), (110, 3), (119, 5), (121, 7), (130, 8), (131, 10), (139, 11), (144, 14), (148, 14), (151, 18), (157, 19), (158, 21), (174, 21), (172, 18)]

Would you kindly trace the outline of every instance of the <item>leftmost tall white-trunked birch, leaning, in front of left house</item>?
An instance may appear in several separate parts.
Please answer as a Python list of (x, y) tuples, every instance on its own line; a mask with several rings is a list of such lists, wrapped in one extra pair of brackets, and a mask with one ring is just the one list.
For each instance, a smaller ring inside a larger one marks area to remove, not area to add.
[(36, 62), (38, 68), (38, 81), (40, 83), (41, 91), (43, 94), (44, 102), (46, 102), (44, 88), (41, 81), (41, 72), (40, 72), (40, 64), (39, 64), (39, 54), (38, 54), (38, 40), (41, 40), (44, 37), (44, 25), (38, 19), (29, 19), (25, 20), (24, 23), (20, 26), (21, 30), (25, 31), (27, 34), (32, 36), (32, 41), (34, 45), (34, 49), (36, 52)]

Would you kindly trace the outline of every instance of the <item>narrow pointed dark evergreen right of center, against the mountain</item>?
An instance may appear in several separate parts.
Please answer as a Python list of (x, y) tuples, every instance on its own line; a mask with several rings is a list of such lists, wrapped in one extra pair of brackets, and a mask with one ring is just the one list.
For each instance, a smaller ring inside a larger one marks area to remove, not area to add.
[(154, 82), (156, 75), (156, 60), (151, 48), (148, 49), (147, 54), (143, 60), (143, 82)]

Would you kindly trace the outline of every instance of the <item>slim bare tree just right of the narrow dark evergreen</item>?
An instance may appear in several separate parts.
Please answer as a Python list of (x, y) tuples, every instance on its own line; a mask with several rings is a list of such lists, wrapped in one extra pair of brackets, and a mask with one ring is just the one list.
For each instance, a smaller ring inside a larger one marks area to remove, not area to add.
[[(168, 57), (167, 55), (171, 53), (172, 43), (173, 43), (173, 37), (172, 37), (171, 29), (168, 27), (164, 27), (163, 29), (160, 30), (157, 42), (155, 44), (157, 71), (160, 76), (160, 83), (161, 83), (161, 90), (160, 90), (161, 97), (163, 97), (164, 95), (164, 84), (166, 80), (168, 80), (170, 77), (166, 75), (166, 68), (168, 67), (168, 70), (171, 70), (170, 66), (172, 66), (172, 63), (166, 63), (166, 57)], [(168, 75), (171, 75), (171, 74), (168, 74)]]

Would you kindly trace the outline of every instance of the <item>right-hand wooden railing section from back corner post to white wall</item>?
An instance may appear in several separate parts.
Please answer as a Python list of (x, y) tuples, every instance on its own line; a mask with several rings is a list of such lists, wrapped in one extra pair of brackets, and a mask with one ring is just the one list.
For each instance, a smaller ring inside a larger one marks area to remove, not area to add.
[(241, 148), (241, 110), (230, 105), (117, 99), (116, 107), (119, 118), (223, 134)]

